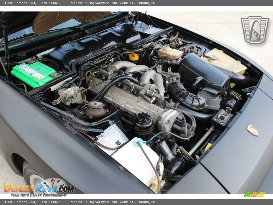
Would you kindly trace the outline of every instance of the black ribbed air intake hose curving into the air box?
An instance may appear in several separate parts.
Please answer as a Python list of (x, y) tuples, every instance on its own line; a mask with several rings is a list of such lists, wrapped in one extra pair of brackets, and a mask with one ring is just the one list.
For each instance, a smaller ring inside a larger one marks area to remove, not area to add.
[(202, 110), (205, 107), (203, 98), (190, 95), (185, 87), (178, 81), (169, 85), (169, 94), (173, 101), (181, 103), (193, 110)]

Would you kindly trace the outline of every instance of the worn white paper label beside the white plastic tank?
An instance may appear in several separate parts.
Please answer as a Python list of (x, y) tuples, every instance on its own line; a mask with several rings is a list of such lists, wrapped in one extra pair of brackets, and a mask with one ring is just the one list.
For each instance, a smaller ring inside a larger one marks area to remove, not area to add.
[[(107, 147), (117, 147), (127, 141), (129, 139), (125, 136), (125, 134), (118, 128), (117, 125), (113, 124), (108, 127), (104, 132), (97, 136), (99, 143), (107, 146)], [(117, 149), (106, 149), (104, 147), (99, 146), (100, 149), (105, 151), (108, 155), (112, 155)]]

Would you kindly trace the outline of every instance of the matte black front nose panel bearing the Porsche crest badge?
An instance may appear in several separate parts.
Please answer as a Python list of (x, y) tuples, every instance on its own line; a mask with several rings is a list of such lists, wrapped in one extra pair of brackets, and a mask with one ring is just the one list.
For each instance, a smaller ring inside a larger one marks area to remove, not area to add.
[[(264, 179), (273, 161), (271, 113), (273, 100), (257, 89), (237, 121), (200, 161), (230, 193), (257, 190)], [(249, 124), (259, 136), (247, 131)]]

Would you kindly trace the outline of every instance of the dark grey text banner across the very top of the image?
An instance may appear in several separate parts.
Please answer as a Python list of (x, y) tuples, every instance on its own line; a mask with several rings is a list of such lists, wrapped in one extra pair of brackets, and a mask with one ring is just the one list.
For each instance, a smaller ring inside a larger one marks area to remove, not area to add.
[(219, 1), (219, 0), (206, 0), (206, 1), (177, 1), (177, 0), (129, 0), (129, 1), (83, 1), (83, 0), (59, 0), (59, 1), (1, 1), (0, 6), (271, 6), (272, 1), (248, 0), (248, 1)]

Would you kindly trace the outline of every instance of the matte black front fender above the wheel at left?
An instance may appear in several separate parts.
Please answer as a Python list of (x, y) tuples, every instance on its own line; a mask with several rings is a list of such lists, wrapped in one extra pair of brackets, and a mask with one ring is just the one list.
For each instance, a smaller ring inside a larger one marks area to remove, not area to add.
[(0, 133), (0, 144), (5, 145), (1, 154), (6, 161), (18, 153), (45, 179), (60, 176), (84, 193), (151, 192), (105, 153), (92, 149), (3, 80), (0, 93), (0, 117), (10, 127), (8, 130), (1, 124), (5, 130)]

